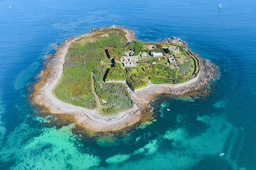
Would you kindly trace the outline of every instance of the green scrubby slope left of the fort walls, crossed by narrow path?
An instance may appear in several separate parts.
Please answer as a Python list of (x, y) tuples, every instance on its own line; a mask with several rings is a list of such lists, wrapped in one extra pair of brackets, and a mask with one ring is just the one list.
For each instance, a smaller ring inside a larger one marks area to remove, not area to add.
[(122, 48), (126, 43), (124, 31), (108, 29), (70, 45), (61, 80), (54, 89), (56, 97), (76, 106), (95, 109), (99, 108), (93, 95), (95, 90), (100, 100), (107, 101), (106, 104), (100, 104), (103, 114), (109, 115), (131, 108), (132, 101), (124, 85), (107, 85), (103, 82), (104, 73), (110, 63), (104, 49)]

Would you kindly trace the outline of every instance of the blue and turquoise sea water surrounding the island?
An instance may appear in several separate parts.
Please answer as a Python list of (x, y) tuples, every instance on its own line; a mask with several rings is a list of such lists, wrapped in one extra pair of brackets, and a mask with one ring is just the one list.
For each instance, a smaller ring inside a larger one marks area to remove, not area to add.
[[(1, 0), (0, 169), (256, 169), (256, 1), (219, 3)], [(206, 99), (157, 99), (156, 120), (124, 136), (84, 139), (72, 124), (45, 124), (29, 102), (44, 55), (113, 24), (143, 41), (188, 41), (220, 80)]]

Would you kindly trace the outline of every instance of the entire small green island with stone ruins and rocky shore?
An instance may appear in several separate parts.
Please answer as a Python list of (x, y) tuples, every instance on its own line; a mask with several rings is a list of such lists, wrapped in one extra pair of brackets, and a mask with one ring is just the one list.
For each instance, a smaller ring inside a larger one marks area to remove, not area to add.
[(90, 131), (120, 131), (149, 118), (148, 103), (159, 94), (202, 89), (216, 70), (179, 38), (142, 42), (134, 31), (113, 25), (56, 47), (32, 99), (40, 111), (68, 115)]

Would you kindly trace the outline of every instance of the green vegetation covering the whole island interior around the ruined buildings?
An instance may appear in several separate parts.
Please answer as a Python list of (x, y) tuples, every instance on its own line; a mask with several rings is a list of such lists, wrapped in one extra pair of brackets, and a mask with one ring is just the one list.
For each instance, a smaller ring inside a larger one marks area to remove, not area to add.
[[(173, 46), (179, 48), (176, 55)], [(147, 53), (138, 57), (136, 67), (122, 64), (123, 52), (130, 50), (134, 52), (132, 55)], [(150, 57), (150, 52), (161, 52), (164, 56)], [(175, 62), (170, 62), (170, 57)], [(124, 31), (105, 29), (70, 45), (54, 95), (66, 103), (113, 115), (132, 107), (127, 85), (136, 90), (147, 86), (149, 80), (154, 84), (181, 83), (193, 78), (196, 71), (198, 61), (186, 46), (139, 41), (127, 45)], [(115, 81), (126, 81), (127, 85)]]

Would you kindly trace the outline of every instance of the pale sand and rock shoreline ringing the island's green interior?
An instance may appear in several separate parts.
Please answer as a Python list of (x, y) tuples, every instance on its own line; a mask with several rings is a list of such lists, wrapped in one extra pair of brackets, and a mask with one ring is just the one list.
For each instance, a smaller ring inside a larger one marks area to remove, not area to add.
[[(111, 27), (117, 26), (113, 25)], [(125, 29), (124, 27), (118, 28), (127, 33), (125, 37), (128, 41), (135, 40), (133, 31)], [(99, 30), (100, 29), (94, 30), (88, 34), (93, 34), (93, 32)], [(118, 131), (120, 129), (124, 129), (125, 127), (136, 124), (141, 120), (141, 112), (157, 94), (180, 95), (191, 90), (198, 90), (204, 85), (207, 85), (209, 81), (212, 81), (216, 73), (216, 67), (211, 64), (211, 62), (200, 59), (198, 55), (195, 55), (200, 66), (195, 78), (192, 78), (185, 83), (176, 85), (154, 85), (152, 83), (148, 83), (147, 87), (135, 90), (134, 92), (127, 86), (127, 90), (129, 94), (131, 94), (132, 100), (134, 101), (134, 106), (130, 110), (122, 111), (115, 116), (104, 117), (100, 115), (97, 110), (88, 110), (79, 106), (64, 103), (60, 99), (56, 98), (54, 94), (52, 94), (52, 90), (60, 80), (61, 74), (63, 73), (63, 64), (65, 62), (65, 56), (68, 52), (70, 44), (88, 34), (67, 39), (61, 46), (58, 46), (54, 57), (47, 62), (46, 67), (50, 70), (48, 70), (47, 74), (44, 74), (43, 71), (41, 80), (35, 85), (35, 91), (33, 92), (33, 103), (41, 106), (42, 108), (47, 108), (49, 112), (54, 114), (72, 115), (76, 118), (77, 124), (82, 125), (91, 131)]]

